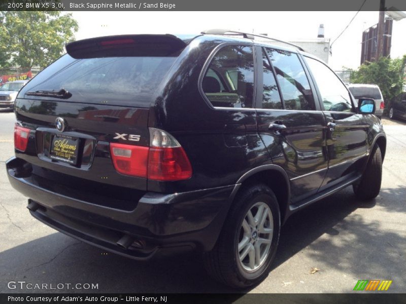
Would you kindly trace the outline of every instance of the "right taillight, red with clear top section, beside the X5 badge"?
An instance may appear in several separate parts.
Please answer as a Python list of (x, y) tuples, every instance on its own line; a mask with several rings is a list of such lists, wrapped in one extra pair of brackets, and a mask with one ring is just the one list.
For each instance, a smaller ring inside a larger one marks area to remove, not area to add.
[(116, 170), (125, 175), (159, 181), (175, 181), (192, 176), (185, 150), (169, 133), (150, 128), (150, 146), (111, 143)]

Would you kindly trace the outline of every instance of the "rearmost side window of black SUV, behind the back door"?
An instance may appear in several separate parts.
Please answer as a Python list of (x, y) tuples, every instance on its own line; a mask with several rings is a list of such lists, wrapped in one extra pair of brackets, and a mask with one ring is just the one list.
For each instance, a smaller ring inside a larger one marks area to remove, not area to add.
[(212, 59), (202, 89), (213, 106), (253, 107), (254, 57), (250, 46), (227, 46)]

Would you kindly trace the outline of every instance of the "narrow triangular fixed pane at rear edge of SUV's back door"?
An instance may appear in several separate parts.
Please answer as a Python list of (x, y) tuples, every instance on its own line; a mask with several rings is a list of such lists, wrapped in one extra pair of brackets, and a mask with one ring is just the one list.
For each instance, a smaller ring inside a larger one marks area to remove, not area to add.
[(282, 101), (279, 95), (278, 86), (272, 67), (269, 64), (268, 58), (262, 51), (262, 66), (263, 66), (263, 93), (262, 93), (262, 108), (263, 109), (281, 109)]

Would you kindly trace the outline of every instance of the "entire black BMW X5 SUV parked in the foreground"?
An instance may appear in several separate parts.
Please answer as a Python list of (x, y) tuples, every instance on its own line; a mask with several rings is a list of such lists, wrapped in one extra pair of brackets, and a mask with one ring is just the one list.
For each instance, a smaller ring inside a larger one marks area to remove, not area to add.
[(7, 171), (32, 216), (134, 259), (200, 251), (241, 288), (293, 212), (348, 185), (375, 198), (374, 100), (300, 48), (222, 33), (68, 44), (15, 101)]

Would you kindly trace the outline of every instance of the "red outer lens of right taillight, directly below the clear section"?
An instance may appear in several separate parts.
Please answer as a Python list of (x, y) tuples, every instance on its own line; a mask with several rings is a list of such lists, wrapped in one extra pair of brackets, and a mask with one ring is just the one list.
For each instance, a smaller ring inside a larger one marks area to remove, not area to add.
[(148, 179), (171, 181), (188, 179), (192, 167), (182, 147), (152, 147), (149, 150)]

